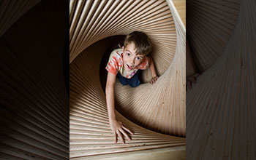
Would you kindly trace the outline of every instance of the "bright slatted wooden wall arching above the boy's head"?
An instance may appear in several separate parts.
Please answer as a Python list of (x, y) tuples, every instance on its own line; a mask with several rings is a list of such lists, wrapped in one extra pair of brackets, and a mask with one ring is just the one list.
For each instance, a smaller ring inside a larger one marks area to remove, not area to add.
[(70, 63), (86, 47), (108, 36), (144, 31), (162, 75), (174, 57), (176, 31), (165, 1), (70, 1)]

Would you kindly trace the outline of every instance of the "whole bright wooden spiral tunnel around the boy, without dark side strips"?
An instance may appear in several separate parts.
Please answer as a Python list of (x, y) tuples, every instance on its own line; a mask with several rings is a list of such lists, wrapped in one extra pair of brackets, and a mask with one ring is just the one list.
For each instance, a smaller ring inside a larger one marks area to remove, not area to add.
[[(184, 159), (185, 28), (173, 1), (70, 1), (69, 9), (70, 159)], [(116, 83), (117, 119), (135, 135), (114, 144), (99, 66), (116, 36), (132, 31), (151, 39), (160, 77), (135, 89)]]

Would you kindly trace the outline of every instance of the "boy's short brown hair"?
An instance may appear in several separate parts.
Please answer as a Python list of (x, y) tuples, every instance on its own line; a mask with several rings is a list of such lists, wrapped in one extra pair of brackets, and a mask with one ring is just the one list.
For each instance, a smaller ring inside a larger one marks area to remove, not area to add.
[(135, 44), (138, 55), (148, 55), (151, 52), (151, 42), (146, 33), (140, 31), (129, 33), (124, 40), (124, 47), (127, 47), (127, 44), (132, 42)]

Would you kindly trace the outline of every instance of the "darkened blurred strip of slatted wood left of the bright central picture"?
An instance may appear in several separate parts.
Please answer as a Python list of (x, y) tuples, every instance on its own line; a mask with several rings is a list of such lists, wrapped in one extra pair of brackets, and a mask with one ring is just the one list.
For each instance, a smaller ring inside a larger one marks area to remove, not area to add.
[[(5, 27), (1, 25), (8, 30), (0, 37), (0, 159), (68, 159), (64, 7), (58, 1), (41, 1), (23, 15), (23, 7), (35, 3), (12, 2), (2, 15), (10, 19)], [(53, 15), (57, 6), (59, 12)]]

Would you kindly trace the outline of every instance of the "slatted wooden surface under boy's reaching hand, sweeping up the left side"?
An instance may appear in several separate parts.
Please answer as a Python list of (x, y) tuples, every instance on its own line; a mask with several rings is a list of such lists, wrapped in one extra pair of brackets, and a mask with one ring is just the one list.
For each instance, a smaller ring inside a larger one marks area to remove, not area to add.
[[(184, 138), (162, 135), (144, 129), (133, 124), (118, 112), (116, 112), (118, 120), (132, 129), (135, 135), (132, 135), (132, 140), (126, 141), (124, 145), (120, 143), (120, 140), (117, 145), (113, 143), (113, 133), (108, 124), (105, 94), (99, 80), (99, 63), (102, 52), (105, 52), (105, 49), (115, 41), (114, 38), (110, 37), (93, 44), (80, 53), (70, 65), (70, 158), (96, 159), (99, 155), (101, 155), (100, 158), (105, 158), (110, 153), (123, 153), (122, 156), (129, 156), (134, 154), (130, 153), (131, 151), (157, 148), (169, 148), (167, 157), (172, 152), (178, 151), (181, 152), (178, 158), (184, 158)], [(111, 157), (118, 157), (118, 155)], [(145, 155), (143, 157), (145, 158)]]

